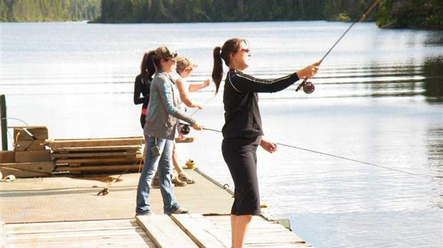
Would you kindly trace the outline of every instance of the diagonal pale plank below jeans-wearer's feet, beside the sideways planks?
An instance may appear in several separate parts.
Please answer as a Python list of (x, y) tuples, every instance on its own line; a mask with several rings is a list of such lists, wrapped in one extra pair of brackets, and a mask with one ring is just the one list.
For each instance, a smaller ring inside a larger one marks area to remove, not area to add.
[(198, 247), (168, 215), (136, 216), (157, 247)]

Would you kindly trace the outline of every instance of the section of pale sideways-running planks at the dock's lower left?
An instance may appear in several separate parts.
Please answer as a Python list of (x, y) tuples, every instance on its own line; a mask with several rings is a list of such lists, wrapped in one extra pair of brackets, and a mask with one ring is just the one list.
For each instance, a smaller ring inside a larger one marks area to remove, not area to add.
[(156, 247), (135, 219), (7, 224), (10, 247)]

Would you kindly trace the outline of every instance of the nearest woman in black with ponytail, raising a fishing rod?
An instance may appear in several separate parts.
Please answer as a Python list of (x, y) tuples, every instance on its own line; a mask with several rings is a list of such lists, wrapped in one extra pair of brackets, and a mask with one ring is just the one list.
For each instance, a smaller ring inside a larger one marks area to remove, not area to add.
[(252, 215), (260, 215), (259, 183), (257, 179), (257, 147), (269, 153), (277, 150), (277, 143), (262, 138), (262, 118), (258, 93), (282, 91), (299, 81), (312, 78), (317, 63), (282, 78), (266, 80), (255, 78), (243, 71), (249, 67), (251, 51), (248, 41), (232, 38), (222, 47), (214, 48), (212, 79), (219, 91), (223, 64), (229, 67), (224, 82), (224, 126), (221, 152), (234, 181), (234, 204), (231, 209), (232, 247), (243, 247)]

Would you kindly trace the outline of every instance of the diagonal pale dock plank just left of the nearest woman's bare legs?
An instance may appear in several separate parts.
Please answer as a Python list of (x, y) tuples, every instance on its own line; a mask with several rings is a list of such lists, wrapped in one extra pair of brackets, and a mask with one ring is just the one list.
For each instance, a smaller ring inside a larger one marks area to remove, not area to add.
[[(224, 218), (230, 218), (224, 216)], [(219, 228), (219, 224), (203, 215), (171, 215), (171, 219), (196, 242), (199, 247), (231, 247), (231, 235), (223, 230), (229, 227)]]

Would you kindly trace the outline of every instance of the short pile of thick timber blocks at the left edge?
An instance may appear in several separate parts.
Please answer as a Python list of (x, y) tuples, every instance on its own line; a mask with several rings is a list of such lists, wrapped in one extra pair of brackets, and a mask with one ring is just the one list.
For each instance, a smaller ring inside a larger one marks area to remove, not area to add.
[(51, 150), (46, 149), (48, 129), (45, 126), (14, 128), (14, 150), (1, 151), (0, 172), (15, 177), (45, 177), (54, 170)]

